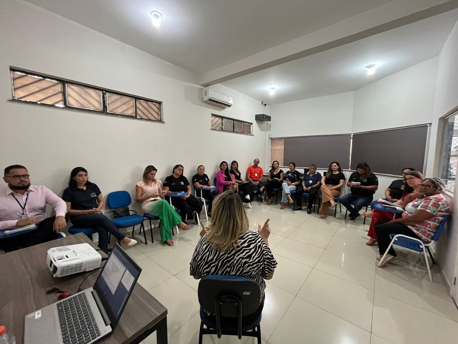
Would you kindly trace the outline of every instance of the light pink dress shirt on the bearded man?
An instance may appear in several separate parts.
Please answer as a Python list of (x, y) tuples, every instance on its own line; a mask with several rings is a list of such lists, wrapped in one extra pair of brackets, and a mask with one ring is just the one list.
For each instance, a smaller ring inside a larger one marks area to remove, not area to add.
[[(24, 205), (27, 193), (29, 193), (26, 214), (27, 217), (37, 217), (41, 222), (48, 217), (46, 205), (51, 205), (56, 216), (65, 216), (67, 205), (64, 200), (43, 185), (30, 185), (29, 189), (23, 194), (16, 194), (9, 187), (0, 190), (0, 229), (15, 227), (19, 216), (22, 215), (22, 208), (17, 204), (16, 199)], [(14, 197), (13, 195), (14, 194)]]

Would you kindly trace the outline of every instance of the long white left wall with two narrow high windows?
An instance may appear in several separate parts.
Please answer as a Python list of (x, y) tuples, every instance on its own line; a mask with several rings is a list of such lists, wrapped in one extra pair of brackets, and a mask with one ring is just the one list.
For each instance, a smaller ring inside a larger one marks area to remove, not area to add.
[[(241, 168), (253, 155), (265, 160), (258, 100), (217, 85), (234, 106), (203, 103), (195, 74), (22, 0), (2, 2), (0, 32), (0, 161), (27, 166), (34, 184), (61, 194), (71, 169), (83, 166), (105, 196), (133, 194), (149, 164), (164, 180), (178, 163), (191, 178), (200, 164), (211, 176), (222, 160)], [(165, 123), (9, 101), (10, 66), (161, 100)], [(254, 136), (210, 130), (212, 113), (255, 122)]]

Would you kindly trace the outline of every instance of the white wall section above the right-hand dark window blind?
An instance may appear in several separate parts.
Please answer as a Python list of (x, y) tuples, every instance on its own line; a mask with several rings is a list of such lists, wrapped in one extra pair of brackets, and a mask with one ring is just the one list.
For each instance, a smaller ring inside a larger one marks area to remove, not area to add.
[(438, 57), (354, 91), (353, 133), (430, 123)]

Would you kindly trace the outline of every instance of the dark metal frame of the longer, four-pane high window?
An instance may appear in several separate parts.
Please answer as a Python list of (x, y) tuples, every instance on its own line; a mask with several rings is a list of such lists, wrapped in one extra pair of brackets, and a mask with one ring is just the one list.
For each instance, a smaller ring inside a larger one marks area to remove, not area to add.
[[(37, 102), (34, 102), (34, 101), (20, 100), (20, 99), (15, 98), (14, 97), (13, 72), (22, 73), (24, 75), (29, 75), (29, 76), (36, 77), (36, 78), (43, 78), (43, 79), (49, 79), (49, 80), (52, 80), (52, 81), (60, 82), (61, 85), (62, 85), (62, 94), (63, 94), (63, 100), (64, 100), (63, 101), (63, 106), (62, 105), (43, 104), (43, 103), (37, 103)], [(73, 81), (73, 80), (67, 80), (67, 79), (63, 79), (63, 78), (56, 78), (55, 76), (33, 72), (33, 71), (30, 71), (30, 70), (27, 70), (27, 69), (24, 69), (24, 68), (18, 68), (18, 67), (10, 66), (10, 74), (11, 74), (11, 99), (9, 101), (14, 101), (14, 102), (23, 103), (23, 104), (33, 104), (33, 105), (48, 106), (48, 107), (52, 107), (52, 108), (60, 108), (60, 109), (71, 110), (71, 111), (85, 111), (85, 112), (93, 112), (93, 113), (98, 113), (98, 114), (103, 114), (103, 115), (108, 115), (108, 116), (133, 118), (133, 119), (141, 120), (141, 121), (164, 123), (164, 118), (163, 118), (164, 103), (162, 101), (160, 101), (160, 100), (155, 100), (155, 99), (151, 99), (151, 98), (144, 98), (144, 97), (138, 97), (138, 96), (136, 96), (134, 94), (123, 93), (123, 92), (119, 92), (119, 91), (116, 91), (116, 90), (113, 90), (113, 89), (104, 89), (104, 88), (101, 88), (101, 87), (98, 87), (98, 86), (94, 86), (94, 85), (90, 85), (90, 84), (87, 84), (87, 83), (81, 83), (81, 82), (77, 82), (77, 81)], [(101, 93), (102, 93), (102, 109), (103, 110), (100, 111), (100, 110), (94, 110), (94, 109), (87, 109), (87, 108), (83, 108), (83, 107), (78, 107), (78, 106), (74, 106), (74, 105), (68, 105), (68, 96), (67, 96), (67, 92), (66, 92), (67, 83), (68, 84), (73, 84), (73, 85), (76, 85), (76, 86), (80, 86), (80, 87), (87, 87), (87, 88), (90, 88), (90, 89), (95, 89), (95, 90), (101, 91)], [(123, 96), (123, 97), (129, 97), (129, 98), (134, 99), (135, 116), (130, 116), (130, 115), (122, 114), (122, 113), (114, 113), (114, 112), (108, 111), (108, 103), (107, 103), (107, 96), (106, 96), (107, 92), (111, 93), (111, 94), (117, 94), (117, 95), (120, 95), (120, 96)], [(148, 102), (152, 102), (152, 103), (158, 104), (159, 105), (159, 120), (137, 117), (137, 112), (136, 112), (137, 109), (136, 109), (136, 101), (135, 100), (144, 100), (144, 101), (148, 101)]]

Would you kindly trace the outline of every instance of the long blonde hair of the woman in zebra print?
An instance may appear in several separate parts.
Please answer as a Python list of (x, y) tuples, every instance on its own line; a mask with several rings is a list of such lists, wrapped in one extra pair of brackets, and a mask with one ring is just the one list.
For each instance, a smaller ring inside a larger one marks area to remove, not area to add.
[(240, 196), (228, 190), (213, 200), (210, 233), (205, 238), (212, 244), (213, 250), (237, 250), (240, 246), (240, 236), (248, 232), (249, 227)]

